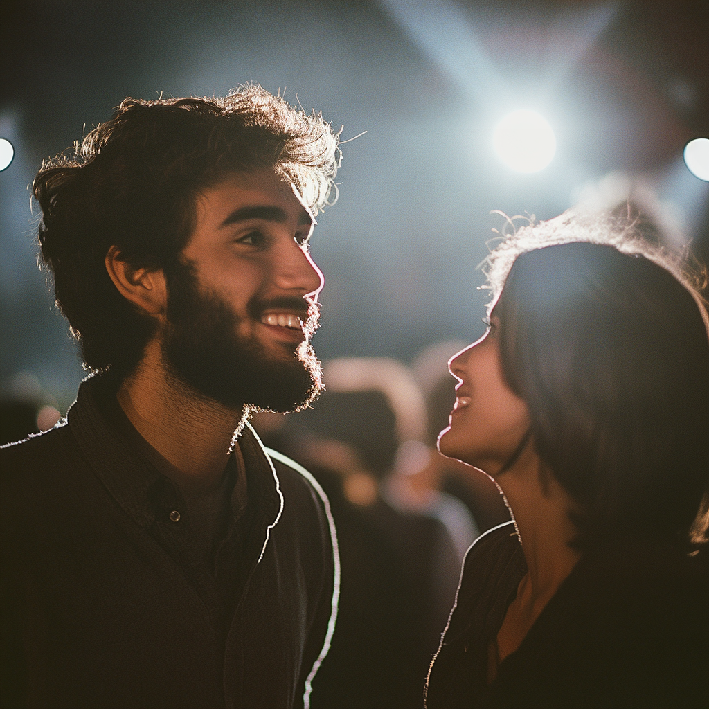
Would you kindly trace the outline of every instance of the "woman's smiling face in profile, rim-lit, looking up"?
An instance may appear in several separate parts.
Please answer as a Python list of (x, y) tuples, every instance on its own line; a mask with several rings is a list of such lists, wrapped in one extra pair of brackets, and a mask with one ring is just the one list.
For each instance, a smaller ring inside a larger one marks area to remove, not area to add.
[(438, 438), (442, 454), (495, 476), (530, 426), (527, 405), (507, 386), (500, 363), (499, 320), (448, 363), (458, 380), (450, 425)]

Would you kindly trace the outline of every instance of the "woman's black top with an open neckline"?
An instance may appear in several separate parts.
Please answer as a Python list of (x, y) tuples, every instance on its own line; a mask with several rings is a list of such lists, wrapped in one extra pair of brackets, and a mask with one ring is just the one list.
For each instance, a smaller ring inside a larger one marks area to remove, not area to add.
[(513, 523), (469, 549), (428, 709), (709, 707), (709, 574), (669, 545), (584, 552), (487, 683), (488, 648), (527, 572)]

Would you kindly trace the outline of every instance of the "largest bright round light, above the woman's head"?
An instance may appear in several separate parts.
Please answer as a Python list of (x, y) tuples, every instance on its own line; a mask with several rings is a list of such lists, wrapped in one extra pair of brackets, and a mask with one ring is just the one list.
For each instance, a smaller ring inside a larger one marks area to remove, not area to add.
[(557, 152), (552, 126), (527, 109), (508, 113), (497, 124), (492, 144), (500, 160), (515, 172), (539, 172)]

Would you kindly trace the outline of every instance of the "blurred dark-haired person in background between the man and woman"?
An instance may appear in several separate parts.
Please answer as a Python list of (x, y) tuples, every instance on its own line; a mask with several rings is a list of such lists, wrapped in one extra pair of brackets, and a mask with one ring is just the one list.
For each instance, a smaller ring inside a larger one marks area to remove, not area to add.
[(313, 472), (337, 524), (340, 609), (312, 705), (420, 708), (460, 572), (440, 519), (386, 494), (400, 445), (425, 430), (423, 400), (391, 359), (335, 359), (324, 374), (328, 390), (313, 408), (281, 417), (278, 430), (273, 417), (255, 420), (264, 442)]

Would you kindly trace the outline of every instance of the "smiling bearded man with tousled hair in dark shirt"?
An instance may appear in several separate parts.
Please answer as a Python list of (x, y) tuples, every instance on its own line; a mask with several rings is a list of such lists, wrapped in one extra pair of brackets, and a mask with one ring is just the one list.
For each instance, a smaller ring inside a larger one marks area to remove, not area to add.
[(33, 191), (91, 371), (0, 451), (4, 706), (308, 705), (337, 607), (327, 499), (250, 408), (322, 388), (308, 243), (337, 136), (260, 86), (126, 99)]

